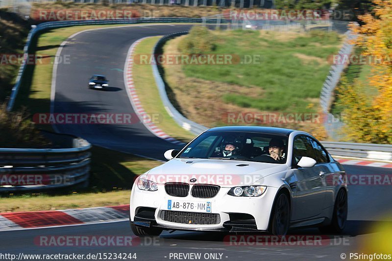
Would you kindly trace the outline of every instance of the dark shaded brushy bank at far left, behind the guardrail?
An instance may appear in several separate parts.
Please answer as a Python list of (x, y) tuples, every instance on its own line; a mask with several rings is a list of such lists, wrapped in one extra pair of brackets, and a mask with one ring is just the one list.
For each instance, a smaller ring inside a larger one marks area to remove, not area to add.
[(29, 22), (15, 13), (0, 9), (0, 147), (48, 147), (46, 140), (31, 124), (28, 113), (6, 111), (7, 97), (18, 75)]

